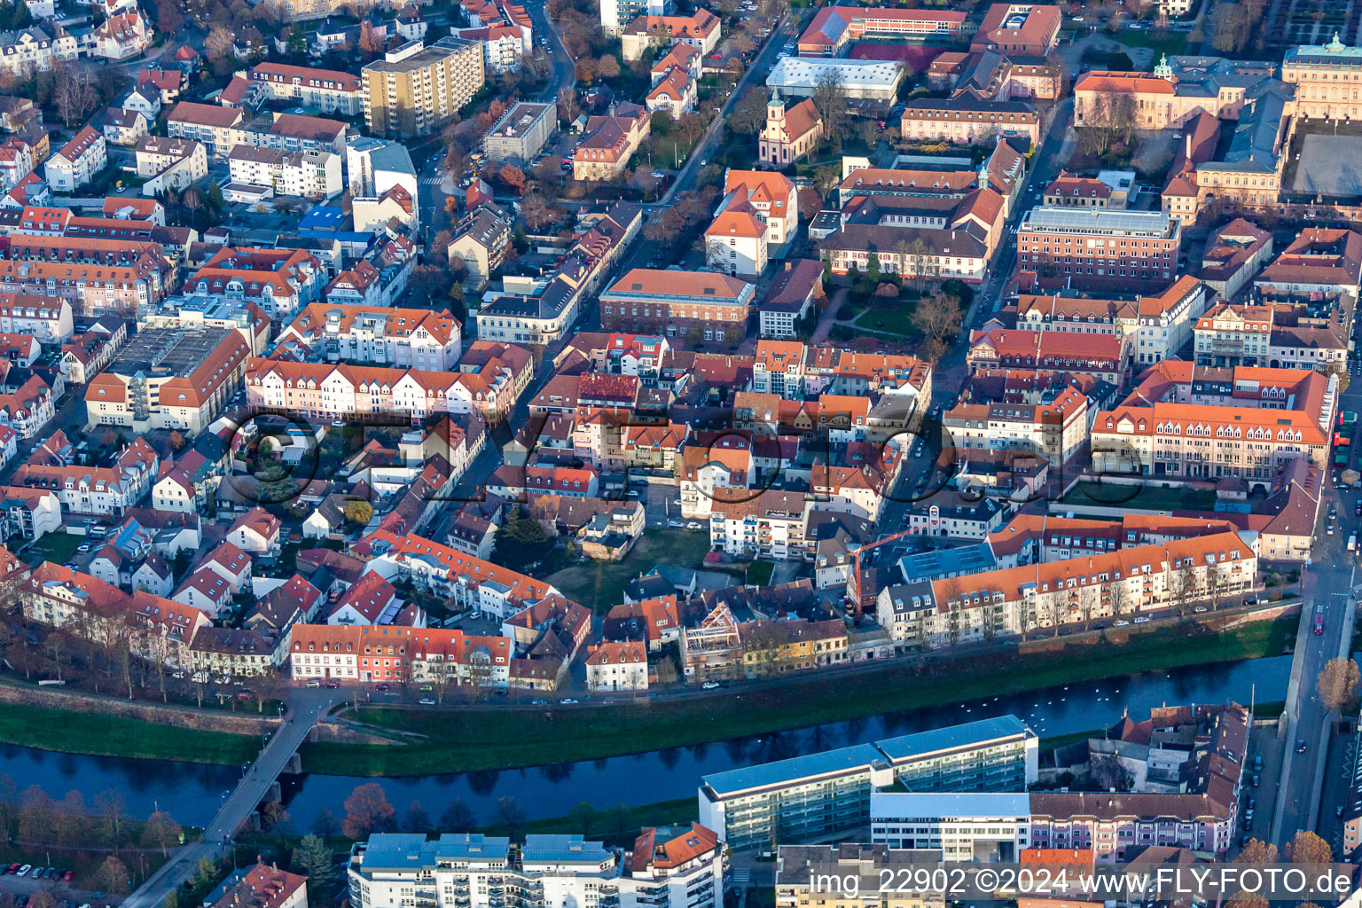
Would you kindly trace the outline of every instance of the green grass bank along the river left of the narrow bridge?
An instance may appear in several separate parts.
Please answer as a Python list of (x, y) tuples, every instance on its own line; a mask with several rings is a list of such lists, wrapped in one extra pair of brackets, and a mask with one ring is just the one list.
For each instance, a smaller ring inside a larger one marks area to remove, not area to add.
[(222, 765), (240, 765), (260, 750), (255, 735), (8, 702), (0, 709), (0, 741), (64, 753)]

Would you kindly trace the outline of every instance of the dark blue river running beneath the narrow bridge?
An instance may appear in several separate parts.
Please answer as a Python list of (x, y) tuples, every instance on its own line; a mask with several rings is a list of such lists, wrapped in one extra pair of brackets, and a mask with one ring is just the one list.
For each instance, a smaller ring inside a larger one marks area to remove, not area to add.
[[(1290, 672), (1290, 656), (1271, 656), (1090, 681), (1027, 694), (576, 764), (379, 780), (316, 775), (286, 777), (285, 799), (290, 822), (300, 830), (311, 829), (323, 810), (342, 817), (346, 795), (365, 781), (383, 785), (399, 818), (413, 800), (419, 800), (428, 814), (439, 818), (449, 800), (462, 798), (478, 822), (492, 822), (496, 800), (503, 796), (519, 800), (531, 818), (557, 817), (583, 800), (605, 809), (620, 803), (689, 798), (704, 773), (1002, 713), (1015, 713), (1043, 738), (1109, 726), (1121, 717), (1126, 707), (1132, 716), (1143, 719), (1151, 707), (1162, 704), (1227, 700), (1248, 704), (1254, 685), (1258, 702), (1272, 702), (1286, 698)], [(222, 794), (233, 787), (241, 771), (0, 745), (0, 773), (11, 776), (20, 790), (35, 784), (57, 799), (71, 790), (80, 791), (87, 803), (101, 791), (114, 788), (124, 794), (128, 810), (138, 817), (146, 817), (159, 806), (181, 822), (203, 825), (211, 820)]]

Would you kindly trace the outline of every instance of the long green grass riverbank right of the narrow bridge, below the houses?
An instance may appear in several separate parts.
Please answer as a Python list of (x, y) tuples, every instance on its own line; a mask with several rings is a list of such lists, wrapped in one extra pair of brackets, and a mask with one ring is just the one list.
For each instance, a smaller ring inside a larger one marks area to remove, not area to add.
[(772, 689), (681, 701), (572, 709), (365, 709), (360, 720), (426, 735), (425, 743), (306, 743), (302, 758), (308, 772), (375, 776), (597, 760), (1136, 671), (1279, 655), (1294, 634), (1294, 618), (1220, 634), (1159, 628), (1120, 645), (1102, 640), (1057, 653), (990, 653), (928, 667), (887, 663), (838, 675), (835, 683), (809, 674)]

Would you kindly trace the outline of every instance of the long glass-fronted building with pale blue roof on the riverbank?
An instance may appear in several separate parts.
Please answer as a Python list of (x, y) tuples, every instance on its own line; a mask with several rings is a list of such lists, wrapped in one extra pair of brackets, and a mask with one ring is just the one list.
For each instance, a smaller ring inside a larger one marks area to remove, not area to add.
[(1015, 791), (1035, 779), (1035, 732), (1000, 716), (711, 773), (700, 784), (700, 822), (730, 848), (771, 848), (866, 825), (870, 794), (896, 781)]

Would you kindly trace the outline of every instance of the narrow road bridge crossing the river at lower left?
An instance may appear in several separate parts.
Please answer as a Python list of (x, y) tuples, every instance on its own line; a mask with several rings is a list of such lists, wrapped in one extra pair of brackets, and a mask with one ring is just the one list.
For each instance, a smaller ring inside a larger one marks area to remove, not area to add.
[(217, 859), (251, 811), (264, 800), (270, 785), (283, 772), (317, 719), (343, 698), (345, 694), (339, 690), (294, 690), (289, 697), (289, 720), (270, 738), (270, 743), (242, 775), (241, 783), (223, 798), (218, 815), (203, 830), (203, 840), (176, 851), (135, 893), (123, 900), (124, 908), (157, 908), (172, 890), (195, 874), (199, 860)]

